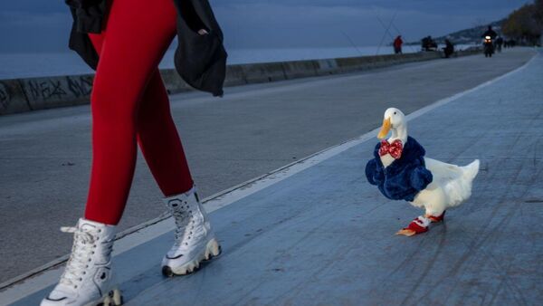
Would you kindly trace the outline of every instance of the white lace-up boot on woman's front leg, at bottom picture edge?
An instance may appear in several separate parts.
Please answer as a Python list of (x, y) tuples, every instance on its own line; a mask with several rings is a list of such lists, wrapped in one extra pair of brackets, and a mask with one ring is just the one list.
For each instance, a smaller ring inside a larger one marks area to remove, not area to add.
[(115, 225), (81, 218), (75, 227), (62, 227), (73, 233), (71, 255), (60, 282), (41, 306), (117, 306), (120, 292), (111, 285), (111, 250)]

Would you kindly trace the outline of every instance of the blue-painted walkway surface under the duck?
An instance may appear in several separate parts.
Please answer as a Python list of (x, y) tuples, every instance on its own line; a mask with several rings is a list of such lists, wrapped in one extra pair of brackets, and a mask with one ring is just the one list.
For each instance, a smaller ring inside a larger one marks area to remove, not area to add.
[[(224, 253), (194, 275), (160, 275), (172, 233), (139, 239), (147, 242), (114, 263), (127, 305), (539, 304), (541, 80), (538, 54), (517, 72), (410, 115), (409, 133), (428, 157), (481, 159), (472, 198), (429, 233), (394, 235), (420, 211), (367, 183), (372, 133), (208, 202), (210, 210), (224, 206), (211, 214)], [(0, 303), (16, 289), (0, 292)]]

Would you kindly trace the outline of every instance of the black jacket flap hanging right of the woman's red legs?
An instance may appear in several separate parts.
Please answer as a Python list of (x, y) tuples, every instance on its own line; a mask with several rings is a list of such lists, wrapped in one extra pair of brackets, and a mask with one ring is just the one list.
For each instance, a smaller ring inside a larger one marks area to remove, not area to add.
[[(177, 14), (176, 71), (189, 85), (223, 95), (226, 57), (223, 32), (207, 0), (174, 0)], [(198, 30), (205, 29), (207, 34)]]

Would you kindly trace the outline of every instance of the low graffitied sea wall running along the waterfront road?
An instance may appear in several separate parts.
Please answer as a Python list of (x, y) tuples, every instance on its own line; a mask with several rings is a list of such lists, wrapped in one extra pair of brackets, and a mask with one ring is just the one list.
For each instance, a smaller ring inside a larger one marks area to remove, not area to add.
[[(472, 49), (456, 56), (480, 53)], [(441, 53), (405, 53), (326, 60), (229, 65), (224, 86), (359, 72), (405, 62), (439, 59)], [(193, 89), (173, 69), (161, 71), (169, 93)], [(89, 103), (93, 74), (0, 80), (0, 115)]]

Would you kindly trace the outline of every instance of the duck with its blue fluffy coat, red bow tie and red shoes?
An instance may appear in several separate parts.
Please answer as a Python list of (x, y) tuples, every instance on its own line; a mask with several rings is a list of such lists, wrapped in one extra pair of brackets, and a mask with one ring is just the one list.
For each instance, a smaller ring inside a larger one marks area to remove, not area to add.
[(480, 160), (461, 167), (425, 157), (424, 148), (408, 135), (407, 120), (401, 110), (385, 111), (377, 138), (381, 141), (376, 144), (374, 158), (366, 165), (368, 182), (389, 199), (405, 200), (424, 209), (424, 215), (414, 218), (396, 234), (423, 234), (430, 224), (443, 222), (447, 209), (460, 206), (472, 196)]

